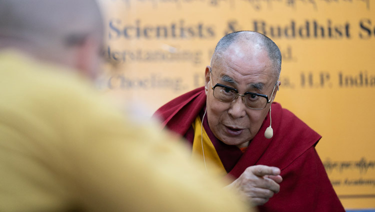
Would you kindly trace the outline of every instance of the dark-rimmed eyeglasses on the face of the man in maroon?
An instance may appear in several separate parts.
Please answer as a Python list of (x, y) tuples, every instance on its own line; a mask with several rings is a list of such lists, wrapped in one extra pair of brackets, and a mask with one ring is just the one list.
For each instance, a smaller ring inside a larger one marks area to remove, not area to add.
[[(271, 97), (276, 85), (277, 82), (273, 86)], [(267, 103), (271, 101), (271, 99), (268, 99), (268, 96), (265, 94), (254, 92), (245, 92), (243, 94), (239, 94), (237, 89), (226, 86), (224, 84), (217, 83), (215, 84), (215, 86), (211, 86), (211, 88), (213, 90), (213, 97), (217, 98), (218, 100), (223, 102), (231, 102), (238, 96), (241, 96), (244, 104), (251, 109), (264, 109), (267, 106)]]

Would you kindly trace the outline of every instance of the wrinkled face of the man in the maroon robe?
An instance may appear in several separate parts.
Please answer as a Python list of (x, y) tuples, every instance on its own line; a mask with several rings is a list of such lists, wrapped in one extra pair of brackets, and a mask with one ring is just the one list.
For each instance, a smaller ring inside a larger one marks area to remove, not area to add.
[(270, 103), (264, 109), (255, 110), (248, 108), (240, 96), (231, 102), (223, 102), (213, 97), (211, 86), (220, 83), (236, 88), (239, 94), (255, 92), (266, 94), (273, 100), (277, 86), (273, 96), (271, 93), (277, 79), (272, 74), (267, 53), (256, 46), (243, 48), (235, 45), (217, 60), (220, 61), (213, 61), (212, 68), (207, 66), (205, 71), (208, 124), (222, 142), (244, 147), (258, 132)]

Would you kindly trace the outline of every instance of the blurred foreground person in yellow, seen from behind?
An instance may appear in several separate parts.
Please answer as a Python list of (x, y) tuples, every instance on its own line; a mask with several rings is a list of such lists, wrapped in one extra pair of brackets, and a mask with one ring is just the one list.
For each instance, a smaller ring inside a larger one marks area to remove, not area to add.
[(0, 211), (243, 211), (178, 142), (99, 96), (93, 0), (0, 0)]

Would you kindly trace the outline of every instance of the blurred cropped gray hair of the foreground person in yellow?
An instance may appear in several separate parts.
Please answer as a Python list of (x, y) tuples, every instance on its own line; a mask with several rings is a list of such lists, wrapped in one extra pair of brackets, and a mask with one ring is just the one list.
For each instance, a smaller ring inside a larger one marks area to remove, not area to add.
[(13, 39), (50, 47), (92, 33), (102, 33), (94, 0), (0, 0), (0, 42)]

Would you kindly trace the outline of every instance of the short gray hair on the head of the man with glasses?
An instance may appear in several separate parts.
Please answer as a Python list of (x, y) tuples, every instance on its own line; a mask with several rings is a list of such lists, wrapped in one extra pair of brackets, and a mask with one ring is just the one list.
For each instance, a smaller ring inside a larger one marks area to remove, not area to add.
[[(267, 52), (274, 70), (274, 77), (278, 79), (281, 71), (281, 53), (277, 45), (267, 36), (255, 31), (237, 31), (223, 36), (217, 43), (211, 59), (211, 67), (220, 65), (223, 56), (230, 46), (255, 46)], [(252, 55), (248, 55), (251, 57)]]

